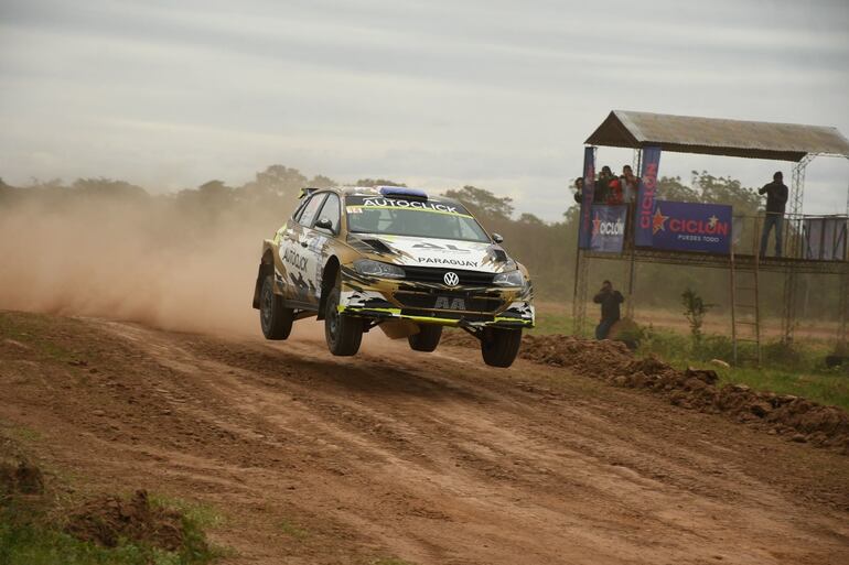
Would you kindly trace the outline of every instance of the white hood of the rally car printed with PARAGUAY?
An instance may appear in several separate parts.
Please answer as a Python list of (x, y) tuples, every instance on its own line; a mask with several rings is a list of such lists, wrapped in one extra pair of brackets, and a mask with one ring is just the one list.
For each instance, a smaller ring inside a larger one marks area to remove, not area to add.
[(348, 236), (358, 251), (399, 265), (436, 267), (499, 273), (517, 268), (496, 243), (456, 239), (356, 233)]

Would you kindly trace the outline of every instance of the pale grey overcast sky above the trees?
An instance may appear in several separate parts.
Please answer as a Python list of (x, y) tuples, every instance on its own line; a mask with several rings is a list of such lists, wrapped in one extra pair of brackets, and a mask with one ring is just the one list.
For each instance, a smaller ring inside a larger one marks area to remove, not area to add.
[[(0, 0), (0, 177), (474, 184), (557, 219), (611, 109), (835, 126), (849, 1)], [(630, 151), (601, 149), (621, 167)], [(762, 185), (791, 164), (667, 153)], [(849, 162), (808, 169), (846, 209)]]

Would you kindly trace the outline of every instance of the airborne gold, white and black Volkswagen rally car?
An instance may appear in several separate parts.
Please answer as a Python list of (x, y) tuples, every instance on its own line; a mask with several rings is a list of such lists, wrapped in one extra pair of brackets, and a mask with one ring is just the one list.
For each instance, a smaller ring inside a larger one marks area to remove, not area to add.
[(433, 351), (443, 326), (509, 367), (534, 326), (527, 269), (459, 202), (398, 186), (305, 188), (292, 217), (262, 242), (254, 290), (262, 334), (286, 339), (316, 316), (333, 355), (357, 352), (379, 327)]

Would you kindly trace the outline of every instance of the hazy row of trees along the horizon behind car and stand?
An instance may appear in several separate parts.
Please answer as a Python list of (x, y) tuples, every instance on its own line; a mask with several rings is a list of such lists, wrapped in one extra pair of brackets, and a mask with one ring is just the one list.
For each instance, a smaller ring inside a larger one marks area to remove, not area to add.
[[(52, 207), (69, 203), (120, 200), (135, 207), (148, 207), (154, 213), (168, 210), (185, 221), (186, 229), (215, 229), (222, 217), (236, 219), (266, 236), (273, 232), (294, 207), (301, 188), (335, 186), (336, 181), (318, 174), (308, 176), (298, 169), (271, 165), (257, 172), (240, 186), (229, 186), (213, 180), (195, 188), (151, 195), (131, 183), (104, 177), (77, 178), (71, 184), (62, 181), (33, 180), (25, 186), (13, 187), (0, 180), (0, 207), (37, 200)], [(405, 185), (398, 180), (361, 178), (359, 186)], [(544, 221), (528, 213), (515, 209), (514, 202), (484, 187), (472, 185), (447, 188), (443, 194), (462, 202), (490, 230), (505, 238), (505, 248), (526, 264), (533, 275), (537, 294), (542, 298), (570, 301), (574, 282), (576, 248), (579, 206), (570, 188), (563, 183), (563, 213), (557, 221)], [(761, 209), (756, 189), (743, 186), (739, 180), (714, 176), (706, 171), (692, 171), (689, 182), (680, 176), (662, 177), (657, 198), (679, 202), (730, 204), (735, 214), (755, 215)], [(627, 265), (624, 261), (593, 261), (590, 270), (590, 290), (598, 282), (610, 279), (619, 287), (625, 286)], [(764, 276), (764, 305), (767, 314), (781, 311), (781, 276)], [(803, 281), (803, 292), (805, 294)], [(809, 284), (817, 284), (815, 281)], [(724, 270), (689, 269), (657, 264), (640, 264), (635, 300), (643, 306), (678, 307), (684, 289), (695, 289), (720, 309), (728, 302), (728, 272)], [(826, 291), (829, 294), (830, 291)], [(809, 293), (808, 293), (809, 294)], [(835, 298), (836, 300), (836, 298)], [(815, 305), (803, 305), (813, 307)], [(809, 312), (815, 314), (816, 312)], [(825, 313), (830, 312), (824, 307)]]

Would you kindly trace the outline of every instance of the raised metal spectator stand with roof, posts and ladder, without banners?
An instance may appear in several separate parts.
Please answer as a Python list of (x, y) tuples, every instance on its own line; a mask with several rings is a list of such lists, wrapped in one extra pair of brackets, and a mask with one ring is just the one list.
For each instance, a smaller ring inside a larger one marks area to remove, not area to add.
[[(780, 273), (784, 278), (782, 301), (782, 338), (793, 340), (796, 327), (796, 293), (802, 273), (838, 275), (840, 281), (838, 347), (849, 354), (847, 347), (847, 326), (849, 326), (849, 254), (845, 257), (815, 253), (805, 239), (813, 229), (816, 217), (803, 216), (805, 196), (805, 173), (807, 165), (819, 155), (839, 156), (849, 160), (849, 140), (836, 128), (803, 126), (793, 123), (770, 123), (757, 121), (726, 120), (694, 116), (671, 116), (625, 110), (613, 110), (604, 121), (584, 141), (588, 146), (630, 148), (634, 150), (635, 173), (641, 174), (640, 162), (645, 157), (643, 151), (654, 148), (663, 152), (723, 155), (743, 159), (763, 159), (792, 162), (793, 173), (787, 213), (784, 216), (784, 249), (782, 257), (759, 257), (757, 241), (760, 229), (755, 227), (752, 249), (733, 249), (731, 256), (710, 254), (692, 251), (668, 251), (648, 247), (637, 247), (633, 238), (633, 226), (627, 228), (622, 251), (602, 253), (590, 249), (577, 250), (576, 281), (572, 305), (576, 334), (584, 329), (587, 318), (587, 275), (591, 259), (612, 259), (627, 261), (624, 273), (627, 280), (627, 315), (634, 312), (634, 289), (636, 285), (636, 263), (666, 263), (688, 267), (710, 267), (730, 269), (732, 292), (732, 333), (737, 336), (737, 326), (743, 319), (738, 308), (748, 305), (754, 311), (755, 339), (761, 340), (761, 315), (757, 296), (744, 298), (742, 287), (754, 289), (757, 293), (760, 273)], [(641, 193), (642, 194), (642, 193)], [(637, 206), (645, 211), (651, 207), (653, 197), (641, 199)], [(636, 217), (636, 210), (628, 210), (630, 221)], [(849, 193), (847, 193), (847, 217), (849, 217)], [(823, 218), (831, 218), (827, 216)], [(762, 221), (755, 220), (755, 226)], [(825, 221), (825, 220), (823, 220)], [(849, 220), (846, 220), (849, 222)], [(737, 229), (737, 228), (734, 228)], [(849, 229), (849, 228), (848, 228)], [(741, 231), (742, 233), (742, 231)], [(737, 245), (737, 243), (734, 243)], [(835, 247), (835, 250), (838, 248)], [(744, 274), (745, 273), (745, 274)], [(749, 274), (751, 273), (751, 274)], [(744, 278), (753, 279), (751, 284)]]

